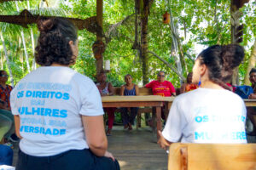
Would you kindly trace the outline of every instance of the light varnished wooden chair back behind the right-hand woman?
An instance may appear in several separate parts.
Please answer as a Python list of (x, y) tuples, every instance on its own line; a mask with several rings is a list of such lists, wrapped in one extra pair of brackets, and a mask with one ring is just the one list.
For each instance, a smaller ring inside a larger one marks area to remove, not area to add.
[(201, 169), (256, 169), (256, 144), (171, 144), (168, 170)]

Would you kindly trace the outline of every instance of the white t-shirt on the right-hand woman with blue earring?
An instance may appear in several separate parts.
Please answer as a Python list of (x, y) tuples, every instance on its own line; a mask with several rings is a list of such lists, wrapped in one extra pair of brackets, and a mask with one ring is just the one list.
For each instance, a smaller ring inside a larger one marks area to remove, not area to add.
[(170, 142), (247, 143), (246, 107), (228, 90), (198, 88), (172, 103), (163, 136)]

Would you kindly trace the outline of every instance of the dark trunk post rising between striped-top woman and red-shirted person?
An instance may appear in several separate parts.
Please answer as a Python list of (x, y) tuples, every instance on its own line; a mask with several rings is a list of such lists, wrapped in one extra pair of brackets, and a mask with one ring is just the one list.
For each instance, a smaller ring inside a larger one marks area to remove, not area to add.
[(148, 14), (153, 1), (142, 0), (141, 8), (141, 58), (143, 60), (143, 85), (148, 83)]

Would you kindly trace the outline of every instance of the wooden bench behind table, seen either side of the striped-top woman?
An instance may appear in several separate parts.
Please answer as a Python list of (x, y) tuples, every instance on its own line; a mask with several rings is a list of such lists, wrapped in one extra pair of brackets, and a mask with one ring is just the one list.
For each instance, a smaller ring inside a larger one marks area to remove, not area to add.
[[(120, 95), (120, 87), (113, 87), (113, 95)], [(152, 89), (150, 88), (139, 88), (139, 95), (153, 95)], [(116, 112), (120, 112), (120, 109), (117, 109)], [(150, 107), (140, 107), (137, 111), (137, 128), (142, 127), (142, 113), (151, 113), (152, 108)]]

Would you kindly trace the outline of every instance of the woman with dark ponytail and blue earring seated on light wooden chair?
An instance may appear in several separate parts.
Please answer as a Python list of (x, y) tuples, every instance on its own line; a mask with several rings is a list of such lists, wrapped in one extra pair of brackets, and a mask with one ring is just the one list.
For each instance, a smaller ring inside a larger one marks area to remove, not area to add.
[(166, 149), (173, 142), (247, 143), (246, 107), (225, 82), (244, 58), (239, 45), (214, 45), (195, 60), (192, 82), (197, 88), (181, 94), (172, 103), (166, 127), (158, 144)]

